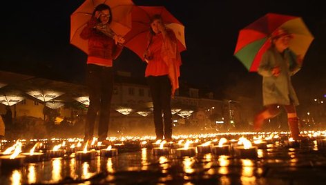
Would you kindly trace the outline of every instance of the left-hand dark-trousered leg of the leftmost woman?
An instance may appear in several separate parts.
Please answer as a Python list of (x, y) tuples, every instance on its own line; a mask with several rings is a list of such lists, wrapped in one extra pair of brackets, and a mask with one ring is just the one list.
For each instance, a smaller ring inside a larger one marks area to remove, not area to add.
[(84, 141), (86, 141), (87, 139), (92, 139), (94, 135), (95, 119), (96, 119), (97, 111), (99, 110), (99, 101), (100, 101), (99, 79), (100, 77), (99, 77), (98, 66), (88, 64), (86, 84), (88, 88), (90, 103), (87, 110)]

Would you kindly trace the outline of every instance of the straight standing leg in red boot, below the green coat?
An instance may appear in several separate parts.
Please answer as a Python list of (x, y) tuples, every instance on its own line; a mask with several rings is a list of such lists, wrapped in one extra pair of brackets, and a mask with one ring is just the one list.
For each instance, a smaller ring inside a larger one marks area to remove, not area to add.
[(289, 124), (289, 130), (291, 132), (291, 137), (293, 139), (300, 139), (300, 131), (299, 131), (299, 119), (296, 115), (296, 106), (294, 104), (284, 106), (285, 110), (287, 110), (287, 123)]

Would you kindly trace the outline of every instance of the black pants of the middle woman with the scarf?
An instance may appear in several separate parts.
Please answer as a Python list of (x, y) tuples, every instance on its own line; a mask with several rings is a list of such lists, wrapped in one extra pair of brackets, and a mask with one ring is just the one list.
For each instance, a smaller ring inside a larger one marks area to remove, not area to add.
[[(153, 113), (155, 133), (157, 139), (171, 139), (172, 137), (172, 114), (171, 114), (171, 81), (167, 75), (147, 77), (147, 83), (151, 88), (153, 99)], [(162, 120), (162, 112), (164, 124)]]

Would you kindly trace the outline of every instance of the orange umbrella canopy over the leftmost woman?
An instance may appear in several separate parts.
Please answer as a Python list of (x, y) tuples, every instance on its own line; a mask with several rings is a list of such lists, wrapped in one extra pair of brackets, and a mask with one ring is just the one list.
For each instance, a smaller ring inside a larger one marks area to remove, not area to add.
[(112, 11), (111, 29), (117, 35), (126, 35), (131, 30), (131, 0), (86, 0), (70, 16), (70, 43), (88, 53), (88, 42), (81, 39), (80, 32), (92, 17), (99, 4), (105, 3)]

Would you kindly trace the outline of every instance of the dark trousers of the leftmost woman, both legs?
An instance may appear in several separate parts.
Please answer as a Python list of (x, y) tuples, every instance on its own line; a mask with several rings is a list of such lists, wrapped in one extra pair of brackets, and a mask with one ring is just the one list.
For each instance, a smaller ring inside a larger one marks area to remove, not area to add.
[(106, 139), (110, 121), (110, 106), (113, 92), (113, 68), (94, 64), (87, 65), (86, 84), (88, 87), (90, 105), (87, 111), (84, 139), (94, 135), (94, 125), (99, 113), (99, 141)]

